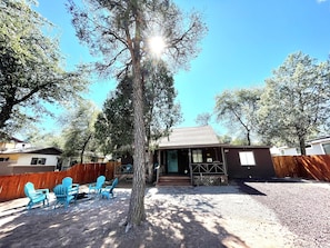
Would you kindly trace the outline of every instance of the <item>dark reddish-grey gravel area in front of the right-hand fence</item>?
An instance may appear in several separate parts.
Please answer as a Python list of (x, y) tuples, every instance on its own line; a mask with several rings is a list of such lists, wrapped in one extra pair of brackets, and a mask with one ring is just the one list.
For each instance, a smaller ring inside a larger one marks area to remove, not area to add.
[(296, 247), (330, 247), (330, 185), (324, 182), (246, 182), (252, 199), (271, 209), (294, 234)]

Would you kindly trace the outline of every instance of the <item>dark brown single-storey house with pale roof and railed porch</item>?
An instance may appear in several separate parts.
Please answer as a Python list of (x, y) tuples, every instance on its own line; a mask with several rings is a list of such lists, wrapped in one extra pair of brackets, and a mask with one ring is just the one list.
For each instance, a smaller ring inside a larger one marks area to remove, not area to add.
[(186, 176), (192, 185), (276, 176), (269, 147), (222, 145), (210, 126), (172, 129), (159, 140), (154, 162), (160, 165), (158, 180)]

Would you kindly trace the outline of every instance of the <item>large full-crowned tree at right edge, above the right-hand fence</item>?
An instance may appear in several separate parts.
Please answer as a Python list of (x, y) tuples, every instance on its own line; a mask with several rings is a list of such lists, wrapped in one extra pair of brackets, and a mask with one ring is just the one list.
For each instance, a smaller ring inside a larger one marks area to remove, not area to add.
[(266, 80), (259, 110), (259, 132), (268, 142), (300, 146), (329, 123), (330, 65), (308, 54), (290, 54)]

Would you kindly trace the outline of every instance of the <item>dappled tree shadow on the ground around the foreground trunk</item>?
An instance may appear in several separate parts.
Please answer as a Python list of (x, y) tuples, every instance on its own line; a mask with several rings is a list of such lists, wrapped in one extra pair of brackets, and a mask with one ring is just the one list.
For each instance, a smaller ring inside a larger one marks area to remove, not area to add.
[[(92, 198), (70, 205), (34, 208), (0, 218), (0, 247), (248, 247), (222, 226), (211, 206), (192, 209), (162, 199), (146, 199), (147, 221), (128, 234), (130, 191), (110, 200)], [(201, 202), (200, 202), (201, 204)]]

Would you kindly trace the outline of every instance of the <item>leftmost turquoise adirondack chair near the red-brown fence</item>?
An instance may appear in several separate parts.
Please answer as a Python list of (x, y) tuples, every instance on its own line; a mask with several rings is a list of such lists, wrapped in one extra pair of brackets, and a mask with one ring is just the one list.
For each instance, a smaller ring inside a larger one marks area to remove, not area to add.
[(41, 201), (43, 206), (44, 202), (49, 206), (49, 189), (34, 189), (34, 185), (29, 181), (24, 185), (24, 194), (30, 199), (27, 206), (28, 209), (31, 209), (33, 205)]

